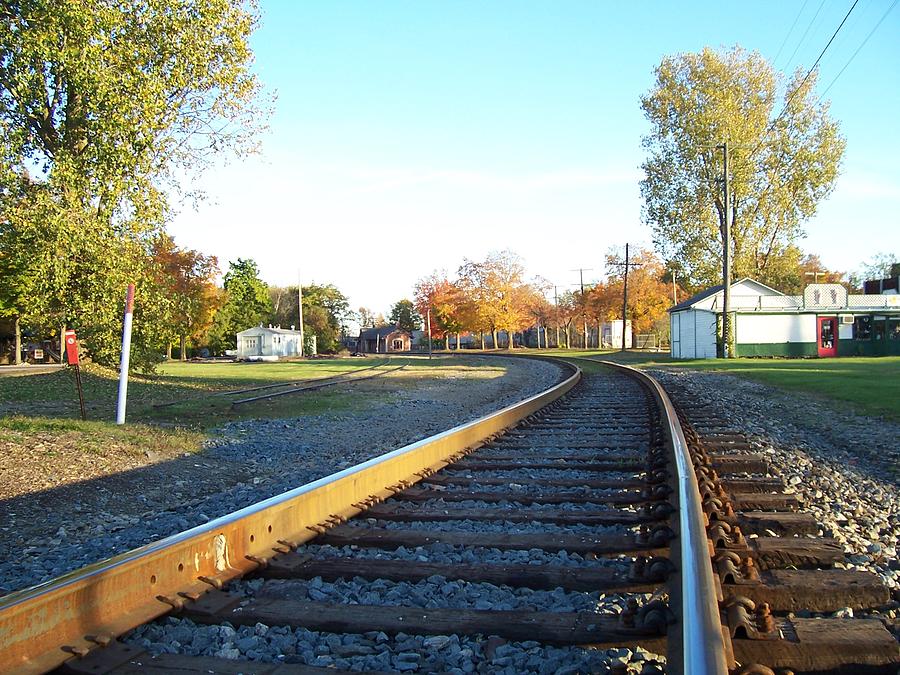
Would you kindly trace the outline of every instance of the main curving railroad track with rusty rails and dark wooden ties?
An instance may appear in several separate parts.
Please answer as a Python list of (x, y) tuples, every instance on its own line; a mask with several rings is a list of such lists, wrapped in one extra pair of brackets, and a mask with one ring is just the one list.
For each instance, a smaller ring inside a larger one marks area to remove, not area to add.
[(895, 672), (880, 622), (788, 618), (884, 604), (880, 580), (829, 569), (764, 457), (667, 400), (592, 366), (8, 596), (0, 671)]

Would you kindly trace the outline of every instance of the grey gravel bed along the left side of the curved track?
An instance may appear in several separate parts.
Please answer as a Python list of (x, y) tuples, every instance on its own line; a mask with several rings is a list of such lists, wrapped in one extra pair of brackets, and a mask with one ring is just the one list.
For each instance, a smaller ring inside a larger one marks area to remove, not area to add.
[[(435, 379), (397, 371), (341, 385), (358, 396), (354, 410), (232, 422), (215, 429), (200, 453), (137, 465), (129, 457), (116, 473), (0, 501), (0, 595), (476, 419), (563, 374), (550, 362), (475, 356), (441, 371)], [(103, 461), (104, 472), (117, 470), (114, 459)], [(24, 476), (70, 471), (65, 455), (17, 467)]]

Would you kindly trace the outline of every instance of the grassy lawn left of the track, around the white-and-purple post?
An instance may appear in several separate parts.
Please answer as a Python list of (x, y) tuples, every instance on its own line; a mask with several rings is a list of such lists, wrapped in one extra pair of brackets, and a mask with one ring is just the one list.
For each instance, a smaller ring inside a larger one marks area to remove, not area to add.
[[(371, 369), (373, 366), (383, 366)], [(391, 377), (391, 392), (415, 386), (425, 379), (453, 377), (460, 370), (477, 368), (502, 374), (503, 368), (489, 363), (460, 364), (451, 357), (424, 358), (337, 358), (276, 363), (200, 363), (170, 362), (159, 367), (152, 376), (132, 375), (128, 383), (126, 428), (135, 429), (129, 437), (116, 427), (115, 406), (117, 374), (110, 369), (88, 365), (82, 368), (87, 422), (79, 419), (75, 373), (71, 368), (25, 376), (0, 377), (0, 441), (23, 440), (23, 433), (59, 435), (81, 433), (86, 448), (102, 443), (129, 445), (148, 443), (153, 430), (189, 429), (204, 431), (225, 422), (243, 418), (285, 418), (322, 412), (337, 412), (365, 407), (369, 396), (361, 396), (344, 387), (326, 387), (298, 392), (258, 402), (232, 406), (241, 398), (276, 392), (279, 389), (250, 391), (225, 395), (226, 392), (251, 387), (291, 382), (313, 382), (339, 375), (365, 377), (380, 371), (404, 366)], [(369, 369), (369, 370), (363, 370)], [(496, 371), (496, 372), (494, 372)], [(360, 386), (384, 383), (382, 378), (366, 380)], [(162, 405), (161, 405), (162, 404)], [(105, 431), (104, 431), (105, 429)], [(137, 430), (141, 430), (138, 432)], [(5, 435), (4, 435), (5, 434)], [(16, 435), (18, 434), (18, 435)], [(194, 440), (200, 436), (191, 437)], [(173, 436), (169, 441), (181, 444), (184, 439)], [(199, 441), (198, 441), (199, 443)]]

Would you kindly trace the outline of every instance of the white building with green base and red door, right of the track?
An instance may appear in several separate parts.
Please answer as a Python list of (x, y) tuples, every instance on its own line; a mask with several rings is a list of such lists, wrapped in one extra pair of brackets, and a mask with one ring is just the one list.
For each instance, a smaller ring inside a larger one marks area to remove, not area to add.
[[(733, 355), (900, 355), (900, 294), (896, 284), (879, 288), (879, 294), (854, 295), (840, 284), (810, 284), (803, 295), (785, 295), (750, 278), (735, 281), (729, 307)], [(716, 358), (722, 289), (713, 286), (669, 310), (672, 358)]]

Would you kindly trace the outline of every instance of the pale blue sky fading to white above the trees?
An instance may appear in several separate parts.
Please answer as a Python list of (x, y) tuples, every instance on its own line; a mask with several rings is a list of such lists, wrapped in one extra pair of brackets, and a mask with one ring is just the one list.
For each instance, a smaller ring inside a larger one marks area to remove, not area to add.
[[(859, 1), (820, 92), (892, 3)], [(503, 248), (560, 287), (601, 278), (610, 246), (651, 246), (639, 98), (663, 56), (740, 44), (805, 69), (851, 4), (261, 0), (263, 151), (190, 186), (209, 200), (171, 230), (223, 270), (251, 257), (269, 283), (334, 283), (382, 312)], [(825, 98), (847, 151), (801, 245), (851, 270), (900, 253), (900, 8)]]

